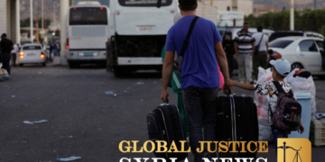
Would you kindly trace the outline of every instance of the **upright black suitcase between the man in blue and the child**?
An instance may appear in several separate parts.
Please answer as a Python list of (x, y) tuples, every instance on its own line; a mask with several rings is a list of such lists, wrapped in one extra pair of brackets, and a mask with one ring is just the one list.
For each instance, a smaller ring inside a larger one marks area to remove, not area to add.
[[(228, 96), (218, 97), (217, 108), (217, 139), (218, 141), (258, 141), (257, 107), (252, 97)], [(229, 148), (229, 150), (232, 149)], [(237, 147), (241, 150), (241, 147)], [(219, 153), (219, 157), (254, 157), (256, 152), (250, 153)], [(255, 145), (251, 145), (255, 150)]]

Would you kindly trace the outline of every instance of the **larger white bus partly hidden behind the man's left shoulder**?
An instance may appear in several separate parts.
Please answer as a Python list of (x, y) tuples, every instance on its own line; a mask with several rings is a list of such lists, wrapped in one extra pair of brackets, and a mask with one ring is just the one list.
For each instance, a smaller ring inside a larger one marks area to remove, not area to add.
[(161, 52), (177, 0), (111, 0), (107, 71), (115, 76), (138, 69), (162, 70)]

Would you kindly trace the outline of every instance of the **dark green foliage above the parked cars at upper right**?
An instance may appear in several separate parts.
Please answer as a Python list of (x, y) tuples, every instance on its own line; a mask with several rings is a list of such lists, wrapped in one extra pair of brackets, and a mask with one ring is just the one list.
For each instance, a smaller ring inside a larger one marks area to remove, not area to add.
[[(290, 30), (290, 12), (267, 13), (259, 17), (253, 14), (246, 16), (245, 21), (250, 26), (262, 25), (265, 29), (274, 31)], [(294, 12), (294, 30), (296, 31), (317, 31), (325, 34), (325, 10), (312, 10), (304, 12)]]

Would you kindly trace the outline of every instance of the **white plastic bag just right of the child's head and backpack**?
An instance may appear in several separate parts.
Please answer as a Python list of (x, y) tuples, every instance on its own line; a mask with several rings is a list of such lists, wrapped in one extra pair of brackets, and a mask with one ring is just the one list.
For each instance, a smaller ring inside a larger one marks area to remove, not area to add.
[(299, 70), (296, 68), (285, 77), (284, 81), (292, 86), (293, 93), (311, 93), (311, 119), (313, 119), (316, 113), (316, 88), (311, 73), (307, 71), (304, 72), (304, 70)]

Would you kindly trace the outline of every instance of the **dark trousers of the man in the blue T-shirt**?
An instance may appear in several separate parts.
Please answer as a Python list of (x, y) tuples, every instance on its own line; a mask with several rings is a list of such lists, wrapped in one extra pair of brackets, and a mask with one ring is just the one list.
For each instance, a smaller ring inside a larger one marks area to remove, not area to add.
[[(195, 162), (203, 162), (202, 157), (217, 157), (215, 153), (198, 153), (199, 141), (216, 141), (216, 109), (218, 88), (187, 87), (182, 90), (185, 110), (189, 122), (190, 148)], [(203, 128), (203, 132), (202, 132)], [(216, 150), (211, 145), (211, 150)]]

